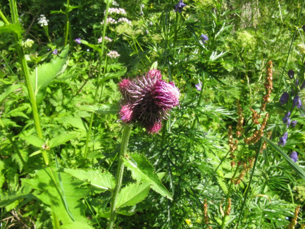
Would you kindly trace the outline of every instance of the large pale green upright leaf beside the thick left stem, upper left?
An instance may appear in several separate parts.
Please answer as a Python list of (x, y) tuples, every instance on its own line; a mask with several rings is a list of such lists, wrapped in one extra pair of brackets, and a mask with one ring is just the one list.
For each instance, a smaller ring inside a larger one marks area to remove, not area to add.
[[(34, 68), (30, 73), (30, 81), (32, 83), (33, 89), (35, 92), (38, 92), (40, 89), (45, 88), (50, 84), (52, 79), (60, 75), (65, 71), (67, 66), (67, 58), (69, 52), (69, 45), (53, 59), (50, 63), (40, 64), (37, 67), (37, 70)], [(36, 88), (36, 71), (37, 71), (37, 88)]]

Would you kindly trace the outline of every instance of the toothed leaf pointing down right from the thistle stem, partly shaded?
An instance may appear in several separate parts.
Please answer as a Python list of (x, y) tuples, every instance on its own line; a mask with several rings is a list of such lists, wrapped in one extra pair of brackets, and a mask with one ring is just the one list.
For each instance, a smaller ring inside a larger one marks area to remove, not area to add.
[(172, 200), (171, 194), (153, 172), (153, 166), (147, 158), (141, 154), (131, 154), (129, 158), (123, 158), (124, 165), (131, 171), (132, 177), (138, 182), (146, 182), (157, 193)]

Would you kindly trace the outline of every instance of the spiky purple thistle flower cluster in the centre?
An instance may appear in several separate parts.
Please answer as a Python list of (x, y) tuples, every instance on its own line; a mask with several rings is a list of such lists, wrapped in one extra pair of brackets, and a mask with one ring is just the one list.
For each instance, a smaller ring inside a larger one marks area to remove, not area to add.
[(138, 123), (148, 133), (159, 133), (162, 119), (179, 105), (179, 89), (173, 82), (163, 81), (159, 70), (150, 70), (135, 79), (123, 79), (119, 89), (122, 94), (120, 120)]

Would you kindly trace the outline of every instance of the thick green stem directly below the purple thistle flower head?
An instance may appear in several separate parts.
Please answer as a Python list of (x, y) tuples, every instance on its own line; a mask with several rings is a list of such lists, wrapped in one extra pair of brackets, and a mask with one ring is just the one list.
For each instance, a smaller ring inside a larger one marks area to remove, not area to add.
[(113, 223), (114, 223), (114, 216), (115, 216), (115, 205), (117, 202), (117, 194), (119, 193), (121, 184), (122, 184), (122, 178), (123, 178), (123, 173), (124, 173), (124, 165), (123, 165), (123, 156), (127, 152), (127, 145), (128, 145), (128, 140), (129, 140), (129, 135), (130, 135), (130, 126), (125, 125), (124, 128), (124, 133), (122, 136), (122, 144), (121, 144), (121, 149), (120, 149), (120, 154), (119, 154), (119, 164), (117, 165), (117, 175), (116, 175), (116, 184), (112, 193), (112, 198), (111, 198), (111, 209), (110, 209), (110, 219), (109, 219), (109, 224), (108, 224), (108, 229), (113, 228)]

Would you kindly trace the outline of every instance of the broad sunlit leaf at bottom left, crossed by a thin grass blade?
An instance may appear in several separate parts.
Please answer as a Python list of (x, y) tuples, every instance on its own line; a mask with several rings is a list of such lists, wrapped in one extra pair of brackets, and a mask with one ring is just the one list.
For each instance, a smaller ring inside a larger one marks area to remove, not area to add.
[[(60, 187), (59, 179), (55, 171), (53, 175), (56, 180), (56, 186)], [(59, 188), (58, 193), (54, 182), (51, 179), (51, 174), (48, 169), (40, 169), (35, 171), (35, 177), (31, 179), (21, 179), (23, 182), (30, 184), (32, 188), (36, 189), (33, 194), (40, 199), (45, 205), (48, 205), (53, 213), (56, 214), (63, 224), (73, 223), (73, 220), (66, 211), (62, 200), (62, 190)], [(72, 176), (67, 173), (60, 173), (63, 190), (65, 191), (66, 202), (74, 219), (79, 222), (88, 224), (89, 220), (85, 215), (86, 205), (80, 201), (90, 191), (87, 187), (80, 187), (82, 181), (73, 180)]]

